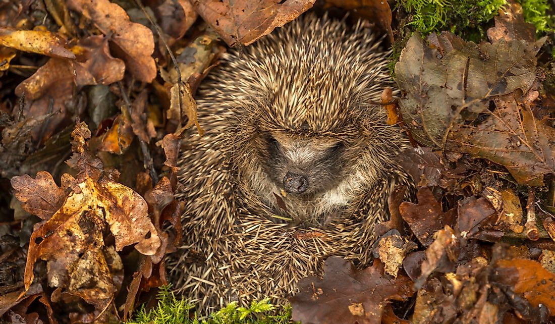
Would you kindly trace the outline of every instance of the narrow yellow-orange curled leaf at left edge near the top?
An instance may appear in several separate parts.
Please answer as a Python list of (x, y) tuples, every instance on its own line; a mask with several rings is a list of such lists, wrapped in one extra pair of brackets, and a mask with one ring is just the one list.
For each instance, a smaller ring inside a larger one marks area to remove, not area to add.
[(64, 39), (48, 31), (14, 31), (0, 27), (0, 45), (51, 57), (75, 58), (75, 54), (65, 48)]

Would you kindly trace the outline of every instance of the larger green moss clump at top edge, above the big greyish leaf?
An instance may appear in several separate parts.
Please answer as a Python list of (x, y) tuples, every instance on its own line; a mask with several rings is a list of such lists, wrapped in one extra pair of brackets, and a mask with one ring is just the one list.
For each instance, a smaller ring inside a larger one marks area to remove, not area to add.
[[(541, 0), (536, 0), (541, 1)], [(506, 0), (401, 0), (405, 11), (412, 16), (407, 24), (422, 34), (450, 30), (462, 36), (467, 29), (480, 28), (490, 21)]]

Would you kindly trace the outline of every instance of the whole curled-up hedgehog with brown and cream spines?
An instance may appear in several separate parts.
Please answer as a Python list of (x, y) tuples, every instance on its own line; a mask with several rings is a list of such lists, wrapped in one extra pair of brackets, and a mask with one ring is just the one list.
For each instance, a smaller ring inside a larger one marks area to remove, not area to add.
[(179, 162), (184, 245), (169, 260), (200, 311), (284, 301), (328, 256), (369, 264), (388, 195), (408, 183), (394, 161), (407, 141), (372, 104), (393, 87), (389, 53), (360, 22), (305, 15), (210, 73), (206, 133), (186, 136)]

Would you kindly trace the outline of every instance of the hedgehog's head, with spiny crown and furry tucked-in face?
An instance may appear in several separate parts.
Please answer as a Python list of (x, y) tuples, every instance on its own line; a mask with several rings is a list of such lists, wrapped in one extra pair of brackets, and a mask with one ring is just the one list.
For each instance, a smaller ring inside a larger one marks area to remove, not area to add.
[[(345, 24), (313, 20), (246, 48), (241, 60), (226, 57), (223, 73), (240, 75), (221, 80), (234, 99), (226, 150), (247, 194), (274, 214), (315, 224), (382, 178), (401, 137), (371, 104), (391, 85), (378, 47), (360, 24), (347, 34)], [(288, 174), (306, 189), (278, 198), (283, 208), (275, 195), (287, 191)]]

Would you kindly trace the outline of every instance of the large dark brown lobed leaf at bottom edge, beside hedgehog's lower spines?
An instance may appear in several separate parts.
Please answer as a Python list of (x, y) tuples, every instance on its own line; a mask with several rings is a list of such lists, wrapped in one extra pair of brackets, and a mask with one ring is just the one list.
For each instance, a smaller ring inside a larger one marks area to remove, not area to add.
[(324, 278), (299, 281), (300, 292), (289, 298), (292, 319), (303, 323), (380, 323), (390, 300), (413, 295), (412, 281), (405, 276), (390, 279), (375, 263), (357, 270), (348, 260), (329, 257)]

